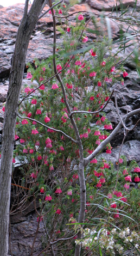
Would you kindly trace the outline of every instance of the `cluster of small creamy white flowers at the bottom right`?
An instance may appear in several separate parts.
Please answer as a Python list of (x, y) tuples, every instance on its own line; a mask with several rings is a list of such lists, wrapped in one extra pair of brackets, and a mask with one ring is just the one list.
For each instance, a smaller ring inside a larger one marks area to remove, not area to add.
[[(135, 243), (136, 241), (139, 241), (139, 235), (136, 233), (136, 231), (132, 231), (130, 233), (130, 229), (125, 228), (122, 231), (119, 231), (116, 228), (113, 228), (111, 231), (107, 231), (107, 229), (102, 229), (100, 233), (96, 231), (95, 229), (89, 229), (86, 228), (83, 233), (82, 240), (76, 240), (75, 243), (80, 243), (82, 247), (93, 247), (94, 245), (97, 246), (97, 244), (100, 245), (101, 249), (106, 249), (107, 251), (111, 251), (111, 255), (115, 255), (114, 249), (116, 249), (120, 255), (125, 251), (126, 243), (133, 242), (133, 245), (135, 245), (136, 249), (140, 248), (140, 245), (138, 243)], [(121, 240), (121, 243), (119, 244), (119, 240)], [(123, 241), (122, 241), (123, 240)], [(123, 242), (123, 246), (122, 246)], [(131, 244), (130, 244), (131, 246)]]

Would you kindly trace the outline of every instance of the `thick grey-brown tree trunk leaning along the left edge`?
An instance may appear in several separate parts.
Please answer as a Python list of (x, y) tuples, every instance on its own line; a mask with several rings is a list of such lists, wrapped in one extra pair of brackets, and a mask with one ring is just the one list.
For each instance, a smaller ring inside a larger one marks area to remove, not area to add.
[(8, 254), (12, 155), (18, 101), (21, 92), (27, 48), (37, 19), (44, 4), (46, 4), (46, 0), (34, 0), (28, 12), (28, 1), (29, 0), (26, 0), (23, 18), (17, 32), (15, 51), (11, 61), (9, 90), (4, 114), (0, 172), (0, 256), (7, 256)]

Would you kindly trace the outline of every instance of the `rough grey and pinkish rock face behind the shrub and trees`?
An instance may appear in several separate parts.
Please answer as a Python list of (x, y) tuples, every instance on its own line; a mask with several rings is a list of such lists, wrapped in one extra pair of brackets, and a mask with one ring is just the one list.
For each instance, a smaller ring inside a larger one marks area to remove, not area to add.
[[(129, 16), (132, 12), (132, 7), (135, 5), (135, 0), (123, 0), (124, 7), (128, 7)], [(101, 24), (100, 21), (100, 13), (107, 16), (107, 21), (110, 22), (112, 39), (114, 42), (113, 53), (117, 50), (117, 39), (119, 38), (119, 30), (120, 23), (116, 20), (117, 11), (114, 8), (113, 13), (111, 14), (111, 10), (113, 5), (116, 6), (116, 0), (87, 0), (81, 4), (76, 4), (70, 9), (70, 13), (74, 11), (87, 11), (84, 15), (88, 20), (90, 16), (94, 15), (97, 18), (97, 27), (99, 30), (103, 30), (104, 34), (107, 35), (107, 25), (106, 23)], [(0, 6), (0, 147), (1, 147), (1, 138), (2, 138), (2, 129), (3, 129), (3, 112), (2, 107), (6, 100), (7, 92), (8, 92), (8, 77), (10, 72), (10, 63), (11, 57), (14, 52), (16, 33), (20, 21), (23, 15), (24, 4), (16, 4), (7, 8), (3, 8)], [(44, 8), (44, 11), (47, 10), (48, 7)], [(140, 10), (140, 1), (137, 1), (137, 6), (135, 10), (135, 16), (139, 15)], [(120, 15), (119, 10), (119, 1), (118, 1), (118, 15)], [(71, 23), (74, 25), (75, 16), (71, 16)], [(128, 29), (128, 24), (123, 25), (123, 31)], [(93, 28), (92, 23), (89, 23), (89, 27)], [(135, 31), (139, 31), (139, 28), (133, 24), (133, 26), (129, 27), (130, 35), (135, 34)], [(93, 39), (97, 38), (96, 34), (87, 33), (88, 38), (92, 42)], [(138, 38), (139, 39), (139, 38)], [(133, 39), (135, 40), (135, 39)], [(61, 43), (60, 32), (57, 32), (57, 41), (58, 44)], [(28, 53), (27, 53), (27, 62), (32, 62), (35, 57), (39, 59), (47, 58), (49, 54), (52, 54), (52, 42), (53, 42), (53, 23), (52, 17), (49, 14), (44, 15), (35, 27), (34, 33), (31, 36)], [(139, 47), (136, 41), (137, 47)], [(125, 52), (120, 52), (119, 56), (122, 59), (125, 59), (132, 52), (133, 46), (126, 48)], [(135, 71), (135, 63), (133, 63), (131, 56), (126, 60), (125, 69), (128, 72), (128, 77), (125, 78), (124, 86), (120, 84), (114, 84), (113, 88), (117, 88), (122, 92), (123, 97), (126, 101), (126, 105), (129, 111), (140, 108), (140, 78)], [(26, 72), (26, 68), (25, 68)], [(29, 83), (26, 80), (26, 75), (24, 76), (23, 84)], [(126, 106), (121, 96), (118, 96), (118, 106), (121, 115), (126, 113)], [(109, 103), (109, 105), (105, 109), (107, 118), (110, 119), (113, 127), (116, 127), (118, 124), (119, 118), (116, 113), (116, 108), (114, 106), (114, 98)], [(132, 127), (136, 124), (136, 121), (140, 118), (140, 116), (132, 117), (127, 125), (128, 127)], [(123, 139), (123, 129), (119, 131), (118, 135), (113, 139), (111, 145), (113, 147), (112, 154), (106, 155), (102, 154), (102, 156), (107, 157), (108, 160), (113, 160), (116, 162), (118, 157), (118, 152), (120, 148), (120, 144)], [(138, 125), (135, 130), (128, 133), (128, 136), (125, 138), (125, 142), (122, 148), (122, 154), (126, 155), (128, 161), (135, 159), (137, 163), (140, 165), (140, 126)], [(134, 184), (135, 185), (135, 184)], [(27, 203), (28, 204), (28, 203)], [(31, 248), (31, 244), (34, 239), (34, 233), (36, 231), (37, 222), (36, 216), (34, 214), (33, 204), (27, 205), (27, 209), (25, 211), (18, 211), (16, 215), (11, 215), (11, 250), (12, 255), (22, 255), (27, 256), (30, 255), (29, 251)], [(40, 248), (40, 237), (42, 233), (43, 226), (40, 227), (39, 236), (36, 240), (36, 247)], [(20, 243), (19, 243), (20, 241)], [(22, 243), (21, 243), (22, 241)], [(10, 248), (9, 248), (9, 255)], [(37, 255), (37, 252), (36, 254)]]

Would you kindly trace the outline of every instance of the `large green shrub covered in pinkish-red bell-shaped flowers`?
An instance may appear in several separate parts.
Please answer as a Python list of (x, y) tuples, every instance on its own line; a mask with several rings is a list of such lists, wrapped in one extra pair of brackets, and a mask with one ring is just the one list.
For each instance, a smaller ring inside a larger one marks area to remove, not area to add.
[[(66, 12), (66, 5), (58, 8), (56, 14)], [(79, 44), (88, 41), (83, 33), (84, 15), (77, 16), (76, 25), (71, 26), (66, 21), (66, 27), (61, 26), (62, 44), (53, 57), (41, 62), (35, 59), (34, 65), (27, 63), (27, 78), (31, 82), (35, 80), (37, 85), (24, 86), (16, 125), (15, 139), (20, 140), (14, 159), (24, 164), (25, 180), (31, 184), (31, 193), (34, 191), (35, 197), (40, 198), (37, 222), (44, 220), (46, 223), (50, 234), (49, 241), (44, 240), (46, 246), (51, 239), (73, 235), (74, 229), (66, 228), (69, 219), (70, 224), (74, 224), (82, 215), (84, 221), (85, 214), (91, 217), (92, 211), (99, 216), (104, 212), (106, 219), (109, 216), (117, 221), (123, 218), (121, 211), (127, 202), (132, 170), (139, 182), (140, 169), (135, 161), (127, 166), (125, 157), (121, 156), (116, 170), (111, 161), (92, 157), (113, 129), (103, 111), (110, 100), (111, 86), (122, 82), (122, 77), (128, 74), (123, 66), (117, 69), (118, 60), (112, 56), (105, 38), (95, 41), (83, 54), (74, 53)], [(111, 154), (111, 149), (107, 143), (104, 151)], [(87, 166), (82, 166), (81, 172), (79, 163), (89, 156), (91, 160)], [(84, 182), (86, 178), (82, 190), (81, 176)], [(104, 193), (107, 200), (103, 197), (100, 203), (98, 192)], [(83, 203), (81, 195), (87, 203)], [(95, 205), (100, 206), (99, 209), (94, 209)], [(109, 242), (104, 246), (108, 247)], [(73, 248), (72, 240), (69, 242), (71, 255)]]

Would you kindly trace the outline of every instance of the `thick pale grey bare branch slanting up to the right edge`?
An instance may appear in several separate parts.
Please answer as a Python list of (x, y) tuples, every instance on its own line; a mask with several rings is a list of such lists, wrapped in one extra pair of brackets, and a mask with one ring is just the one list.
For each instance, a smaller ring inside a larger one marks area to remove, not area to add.
[[(140, 108), (135, 109), (129, 112), (128, 114), (124, 115), (123, 119), (128, 119), (132, 117), (132, 115), (135, 115), (138, 113), (140, 113)], [(101, 142), (100, 145), (94, 150), (94, 152), (90, 156), (86, 157), (85, 166), (87, 166), (87, 164), (111, 141), (111, 139), (113, 139), (114, 136), (116, 136), (117, 132), (122, 128), (122, 126), (123, 126), (122, 122), (120, 121), (117, 127), (109, 135), (109, 137), (107, 137), (103, 142)]]

